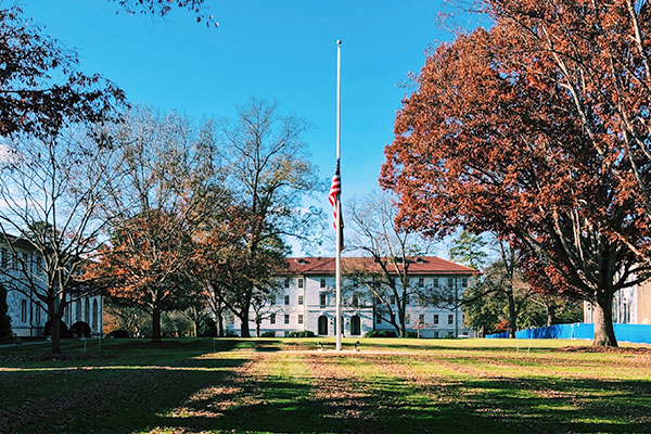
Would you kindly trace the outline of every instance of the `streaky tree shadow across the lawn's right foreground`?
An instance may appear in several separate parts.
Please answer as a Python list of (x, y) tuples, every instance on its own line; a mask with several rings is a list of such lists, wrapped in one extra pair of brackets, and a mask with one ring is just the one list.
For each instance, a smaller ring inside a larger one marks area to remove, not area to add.
[[(339, 397), (263, 376), (155, 425), (188, 433), (637, 433), (651, 432), (650, 390), (647, 381), (477, 379), (433, 388), (383, 379)], [(216, 409), (225, 399), (232, 405)]]

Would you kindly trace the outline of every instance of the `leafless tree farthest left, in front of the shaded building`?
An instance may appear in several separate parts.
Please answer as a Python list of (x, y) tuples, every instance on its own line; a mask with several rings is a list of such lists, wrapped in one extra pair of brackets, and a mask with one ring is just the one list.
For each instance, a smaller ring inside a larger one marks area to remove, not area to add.
[(79, 127), (42, 140), (16, 137), (0, 161), (0, 243), (14, 260), (0, 276), (8, 290), (43, 306), (53, 353), (66, 306), (94, 291), (82, 268), (111, 222), (102, 204), (119, 182), (110, 169), (115, 149), (92, 136)]

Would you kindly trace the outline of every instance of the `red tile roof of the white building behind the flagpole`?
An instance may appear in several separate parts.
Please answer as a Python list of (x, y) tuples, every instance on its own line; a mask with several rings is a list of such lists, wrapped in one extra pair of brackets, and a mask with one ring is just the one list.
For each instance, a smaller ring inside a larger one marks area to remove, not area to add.
[[(294, 257), (286, 258), (289, 269), (288, 273), (291, 275), (334, 275), (335, 271), (335, 258), (333, 257)], [(350, 268), (367, 268), (370, 271), (380, 271), (380, 265), (376, 264), (372, 257), (343, 257), (342, 258), (342, 270)], [(401, 268), (401, 265), (399, 265)], [(388, 267), (390, 272), (395, 270), (393, 264)], [(397, 275), (397, 272), (395, 272)], [(480, 271), (474, 268), (465, 267), (463, 265), (455, 264), (449, 260), (442, 259), (436, 256), (418, 256), (412, 259), (409, 264), (410, 275), (478, 275)]]

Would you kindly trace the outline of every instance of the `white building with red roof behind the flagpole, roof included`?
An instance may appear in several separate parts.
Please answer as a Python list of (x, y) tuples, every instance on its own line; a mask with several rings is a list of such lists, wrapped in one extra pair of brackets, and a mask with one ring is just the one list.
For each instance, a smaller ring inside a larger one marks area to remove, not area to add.
[[(276, 336), (285, 336), (290, 332), (311, 331), (317, 336), (334, 336), (335, 328), (335, 259), (333, 257), (288, 258), (288, 271), (279, 276), (281, 295), (269, 302), (261, 332), (273, 332)], [(378, 265), (369, 257), (344, 257), (342, 268), (345, 272), (353, 266), (376, 270)], [(469, 279), (478, 272), (472, 268), (441, 259), (423, 256), (412, 260), (409, 266), (411, 284), (421, 288), (447, 290), (450, 294), (449, 308), (427, 306), (412, 296), (407, 306), (406, 320), (408, 331), (418, 331), (422, 337), (473, 336), (471, 329), (463, 328), (463, 314), (454, 307), (461, 297)], [(397, 273), (395, 275), (397, 277)], [(399, 281), (399, 280), (398, 280)], [(346, 286), (346, 282), (342, 282)], [(344, 291), (344, 293), (346, 293)], [(349, 293), (348, 293), (349, 294)], [(454, 294), (454, 295), (452, 295)], [(392, 299), (390, 303), (395, 303)], [(361, 301), (355, 295), (344, 295), (342, 321), (344, 336), (363, 336), (370, 331), (395, 328), (376, 315), (374, 299)], [(255, 333), (255, 315), (252, 311), (250, 330)], [(230, 332), (240, 333), (241, 326), (235, 318), (228, 326)]]

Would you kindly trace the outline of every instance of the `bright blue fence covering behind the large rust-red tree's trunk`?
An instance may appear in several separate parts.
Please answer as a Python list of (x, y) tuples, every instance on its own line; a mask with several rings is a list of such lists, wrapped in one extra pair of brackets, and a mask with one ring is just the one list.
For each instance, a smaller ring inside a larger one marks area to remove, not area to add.
[[(613, 324), (617, 342), (651, 344), (651, 324)], [(518, 339), (583, 339), (591, 340), (595, 335), (595, 324), (575, 322), (573, 324), (556, 324), (526, 329), (515, 332)], [(487, 339), (509, 337), (509, 332), (495, 333)]]

